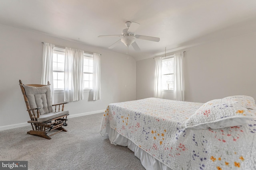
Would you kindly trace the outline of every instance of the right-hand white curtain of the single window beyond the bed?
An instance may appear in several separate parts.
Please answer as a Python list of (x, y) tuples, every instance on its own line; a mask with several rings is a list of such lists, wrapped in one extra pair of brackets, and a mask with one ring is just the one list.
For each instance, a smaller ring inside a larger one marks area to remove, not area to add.
[(183, 52), (174, 54), (174, 100), (184, 101)]

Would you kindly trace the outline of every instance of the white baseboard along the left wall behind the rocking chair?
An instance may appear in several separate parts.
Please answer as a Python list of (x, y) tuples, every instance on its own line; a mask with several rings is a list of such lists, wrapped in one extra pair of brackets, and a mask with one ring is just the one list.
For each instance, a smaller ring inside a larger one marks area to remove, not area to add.
[[(68, 115), (68, 119), (73, 118), (73, 117), (92, 115), (92, 114), (96, 114), (96, 113), (104, 113), (104, 111), (105, 110), (98, 110), (98, 111), (90, 111), (90, 112), (86, 112), (86, 113), (78, 113), (78, 114), (74, 114), (74, 115)], [(18, 123), (18, 124), (0, 126), (0, 131), (4, 131), (4, 130), (8, 130), (8, 129), (14, 129), (14, 128), (17, 128), (17, 127), (24, 127), (24, 126), (30, 126), (30, 124), (26, 122), (26, 123)]]

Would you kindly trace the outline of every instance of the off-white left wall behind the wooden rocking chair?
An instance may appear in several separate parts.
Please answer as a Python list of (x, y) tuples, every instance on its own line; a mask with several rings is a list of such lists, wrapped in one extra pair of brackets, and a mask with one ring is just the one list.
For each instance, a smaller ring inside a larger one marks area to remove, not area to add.
[[(102, 111), (109, 103), (136, 99), (136, 61), (130, 56), (128, 59), (127, 55), (1, 24), (0, 37), (0, 130), (22, 126), (30, 119), (18, 81), (40, 84), (41, 42), (102, 54), (101, 100), (93, 101), (92, 92), (84, 92), (84, 100), (65, 105), (71, 117)], [(55, 102), (63, 101), (63, 93), (54, 96)]]

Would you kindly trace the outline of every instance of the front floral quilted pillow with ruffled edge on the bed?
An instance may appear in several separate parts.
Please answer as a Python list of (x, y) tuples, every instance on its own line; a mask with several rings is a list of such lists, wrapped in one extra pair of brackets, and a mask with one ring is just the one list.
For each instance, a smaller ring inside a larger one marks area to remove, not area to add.
[(256, 119), (256, 110), (247, 109), (237, 98), (215, 99), (206, 102), (186, 121), (186, 128), (219, 129), (247, 124)]

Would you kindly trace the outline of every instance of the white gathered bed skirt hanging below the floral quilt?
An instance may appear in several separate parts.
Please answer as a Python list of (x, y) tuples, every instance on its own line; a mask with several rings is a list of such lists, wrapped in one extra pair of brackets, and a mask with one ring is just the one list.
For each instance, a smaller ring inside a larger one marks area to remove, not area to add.
[[(105, 131), (106, 130), (106, 131)], [(134, 152), (134, 155), (140, 159), (140, 162), (146, 170), (172, 170), (162, 162), (159, 162), (156, 158), (148, 154), (146, 151), (135, 145), (131, 140), (117, 133), (109, 125), (100, 132), (102, 136), (108, 133), (108, 139), (111, 144), (128, 147)]]

